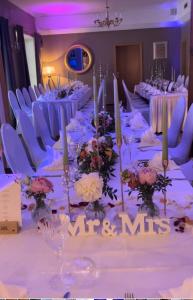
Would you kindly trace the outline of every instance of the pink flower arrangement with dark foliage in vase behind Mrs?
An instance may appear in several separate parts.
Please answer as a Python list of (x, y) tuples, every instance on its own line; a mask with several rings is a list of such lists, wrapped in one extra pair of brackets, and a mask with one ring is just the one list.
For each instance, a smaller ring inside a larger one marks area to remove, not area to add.
[(133, 191), (138, 192), (138, 199), (141, 199), (141, 210), (146, 210), (151, 217), (159, 215), (159, 209), (153, 202), (155, 191), (166, 192), (166, 187), (171, 185), (171, 180), (158, 174), (153, 168), (148, 166), (139, 167), (136, 170), (124, 170), (122, 172), (122, 181), (129, 187), (129, 195)]

